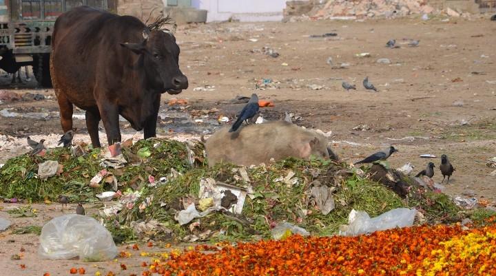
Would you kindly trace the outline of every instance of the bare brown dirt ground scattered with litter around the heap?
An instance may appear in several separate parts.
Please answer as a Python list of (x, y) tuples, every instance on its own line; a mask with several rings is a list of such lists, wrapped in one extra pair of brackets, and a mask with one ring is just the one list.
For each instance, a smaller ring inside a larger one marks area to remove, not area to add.
[[(329, 32), (338, 36), (309, 37)], [(209, 114), (209, 118), (215, 120), (224, 115), (233, 118), (239, 112), (242, 105), (229, 103), (236, 95), (257, 93), (275, 105), (262, 109), (266, 119), (277, 120), (285, 112), (291, 112), (301, 117), (296, 120), (298, 125), (332, 131), (333, 149), (346, 162), (358, 161), (387, 145), (394, 145), (400, 152), (389, 158), (393, 167), (411, 162), (417, 172), (433, 161), (437, 167), (434, 176), (437, 182), (442, 180), (438, 167), (440, 156), (445, 153), (456, 169), (446, 185), (446, 193), (495, 202), (495, 176), (488, 175), (494, 169), (486, 167), (486, 160), (496, 156), (495, 32), (495, 23), (488, 19), (189, 25), (176, 33), (181, 47), (180, 67), (189, 78), (189, 89), (178, 98), (189, 100), (191, 106), (184, 111), (189, 114), (196, 114), (194, 110), (218, 109)], [(385, 47), (389, 39), (396, 39), (400, 47)], [(420, 45), (408, 47), (409, 39), (420, 39)], [(264, 54), (262, 47), (271, 47), (280, 56), (273, 58)], [(371, 56), (355, 56), (363, 52)], [(332, 58), (330, 65), (329, 57)], [(391, 63), (376, 62), (382, 58)], [(342, 63), (349, 66), (338, 69)], [(379, 89), (378, 93), (363, 88), (365, 76)], [(262, 78), (270, 78), (271, 84), (267, 89), (256, 89), (256, 82)], [(10, 79), (1, 80), (5, 83), (3, 89), (16, 91), (7, 85)], [(342, 81), (356, 84), (357, 89), (346, 92), (341, 87)], [(213, 91), (194, 89), (207, 85), (213, 87)], [(33, 82), (20, 85), (17, 91), (33, 93), (30, 89), (34, 86)], [(52, 90), (35, 92), (52, 98), (3, 103), (0, 110), (57, 111)], [(164, 110), (170, 98), (172, 96), (163, 95)], [(177, 123), (175, 120), (178, 119), (163, 119), (158, 132), (180, 136), (180, 131), (169, 132), (170, 125)], [(75, 125), (81, 129), (81, 136), (87, 136), (84, 120), (76, 120)], [(56, 116), (48, 119), (2, 117), (0, 120), (0, 134), (24, 138), (51, 133), (61, 133)], [(198, 137), (201, 133), (193, 134)], [(3, 148), (0, 162), (24, 151), (27, 151), (24, 147), (19, 151)], [(424, 153), (437, 158), (420, 158)], [(6, 209), (11, 204), (3, 206)], [(37, 207), (40, 215), (36, 220), (11, 220), (16, 226), (43, 225), (60, 212), (51, 210), (53, 206)], [(0, 217), (10, 216), (0, 211)], [(72, 266), (84, 266), (92, 275), (97, 269), (93, 264), (79, 261), (39, 262), (34, 235), (11, 235), (6, 231), (0, 234), (0, 244), (1, 267), (13, 270), (21, 263), (28, 266), (17, 270), (18, 275), (43, 275), (40, 269), (47, 265), (51, 275), (67, 275)], [(26, 250), (25, 259), (11, 261), (10, 255), (21, 247)], [(118, 271), (120, 262), (119, 259), (96, 266), (112, 268), (118, 275), (129, 275), (127, 271)], [(141, 260), (136, 257), (134, 262), (138, 267)], [(103, 270), (101, 273), (104, 275)]]

